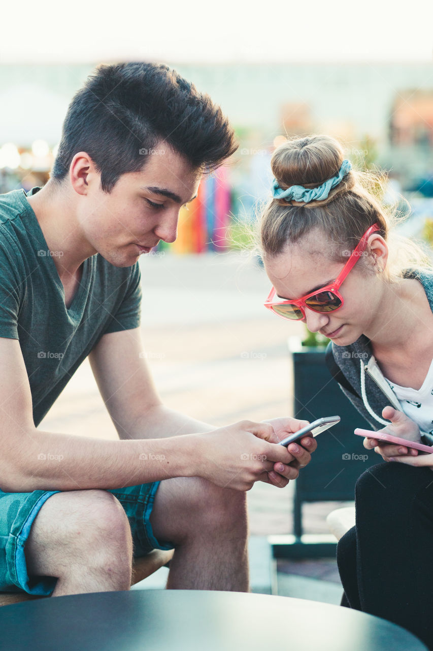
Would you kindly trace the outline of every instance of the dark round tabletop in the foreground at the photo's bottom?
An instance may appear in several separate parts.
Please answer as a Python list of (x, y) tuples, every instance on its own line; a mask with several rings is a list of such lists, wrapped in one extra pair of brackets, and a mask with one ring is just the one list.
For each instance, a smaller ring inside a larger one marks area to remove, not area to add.
[(244, 592), (96, 592), (0, 608), (10, 651), (426, 651), (372, 615)]

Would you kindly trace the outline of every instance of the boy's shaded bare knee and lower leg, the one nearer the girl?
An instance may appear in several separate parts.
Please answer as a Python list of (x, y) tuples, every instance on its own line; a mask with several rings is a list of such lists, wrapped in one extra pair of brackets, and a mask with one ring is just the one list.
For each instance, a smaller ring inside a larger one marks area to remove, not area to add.
[(248, 592), (245, 493), (199, 477), (166, 479), (150, 524), (157, 540), (176, 547), (168, 588)]

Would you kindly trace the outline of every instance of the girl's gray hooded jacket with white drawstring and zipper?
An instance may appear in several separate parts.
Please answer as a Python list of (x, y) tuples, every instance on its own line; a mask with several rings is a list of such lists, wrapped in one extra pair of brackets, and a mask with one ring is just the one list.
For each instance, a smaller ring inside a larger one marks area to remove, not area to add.
[[(405, 278), (416, 278), (423, 284), (430, 309), (433, 312), (433, 271), (408, 270), (404, 273)], [(341, 391), (348, 397), (350, 402), (369, 422), (373, 430), (380, 430), (389, 424), (382, 418), (382, 409), (387, 405), (403, 411), (402, 406), (386, 381), (374, 355), (371, 352), (370, 341), (361, 335), (350, 346), (336, 346), (332, 343), (332, 354), (345, 376), (347, 382), (354, 389), (357, 395), (352, 394), (348, 389), (339, 384)], [(433, 357), (433, 351), (432, 351)], [(338, 378), (336, 378), (338, 381)], [(423, 440), (433, 444), (433, 436), (427, 432), (421, 432)]]

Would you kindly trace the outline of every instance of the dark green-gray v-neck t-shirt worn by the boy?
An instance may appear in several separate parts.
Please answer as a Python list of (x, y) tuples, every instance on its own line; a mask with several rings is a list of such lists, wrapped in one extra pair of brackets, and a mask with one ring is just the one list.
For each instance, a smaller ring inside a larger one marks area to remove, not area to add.
[(20, 340), (35, 426), (102, 335), (140, 325), (140, 303), (138, 262), (117, 268), (97, 253), (84, 261), (66, 309), (53, 255), (25, 191), (0, 195), (0, 337)]

